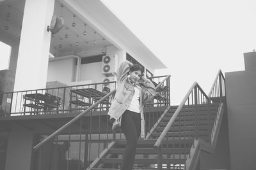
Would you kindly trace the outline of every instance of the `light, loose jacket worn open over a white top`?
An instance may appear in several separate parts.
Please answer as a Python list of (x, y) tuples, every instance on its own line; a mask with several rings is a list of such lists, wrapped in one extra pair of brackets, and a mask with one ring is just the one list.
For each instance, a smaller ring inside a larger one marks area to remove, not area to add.
[[(132, 63), (125, 60), (120, 64), (118, 72), (116, 73), (117, 89), (116, 94), (109, 108), (108, 115), (115, 119), (122, 116), (124, 111), (128, 108), (134, 95), (134, 87), (128, 80), (128, 73)], [(141, 138), (145, 138), (145, 119), (143, 114), (143, 104), (150, 101), (156, 96), (154, 84), (145, 77), (141, 77), (140, 81), (140, 116), (141, 116)]]

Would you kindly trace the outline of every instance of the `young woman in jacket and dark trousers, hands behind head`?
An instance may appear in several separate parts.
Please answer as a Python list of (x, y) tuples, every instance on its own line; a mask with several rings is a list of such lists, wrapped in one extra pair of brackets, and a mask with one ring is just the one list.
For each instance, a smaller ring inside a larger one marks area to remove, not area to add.
[(132, 169), (139, 137), (145, 138), (143, 104), (156, 95), (154, 84), (143, 76), (143, 67), (124, 61), (120, 64), (117, 89), (108, 115), (111, 122), (122, 117), (121, 129), (127, 140), (121, 170)]

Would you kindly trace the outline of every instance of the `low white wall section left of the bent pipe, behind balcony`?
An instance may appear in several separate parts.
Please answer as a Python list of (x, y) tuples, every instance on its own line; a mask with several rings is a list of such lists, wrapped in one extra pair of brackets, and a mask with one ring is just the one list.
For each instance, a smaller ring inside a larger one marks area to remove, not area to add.
[(69, 83), (74, 76), (75, 59), (54, 60), (49, 62), (47, 71), (47, 81), (60, 81)]

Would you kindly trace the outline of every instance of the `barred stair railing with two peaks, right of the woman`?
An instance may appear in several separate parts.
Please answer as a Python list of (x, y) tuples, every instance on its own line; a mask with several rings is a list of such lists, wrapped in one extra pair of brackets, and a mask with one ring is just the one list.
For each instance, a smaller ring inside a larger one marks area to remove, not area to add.
[[(184, 168), (184, 162), (191, 157), (189, 150), (195, 146), (194, 139), (211, 143), (211, 130), (223, 96), (225, 78), (221, 71), (218, 71), (209, 96), (198, 83), (193, 83), (154, 145), (157, 169), (162, 169), (163, 164), (167, 164), (167, 169), (171, 166)], [(163, 149), (168, 151), (164, 155)]]

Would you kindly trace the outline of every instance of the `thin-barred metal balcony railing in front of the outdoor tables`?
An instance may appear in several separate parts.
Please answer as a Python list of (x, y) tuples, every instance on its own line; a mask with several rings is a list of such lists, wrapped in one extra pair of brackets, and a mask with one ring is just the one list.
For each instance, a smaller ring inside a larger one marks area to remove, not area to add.
[[(155, 76), (149, 79), (157, 87), (166, 76)], [(81, 113), (99, 101), (100, 98), (116, 89), (116, 81), (92, 83), (49, 89), (24, 90), (0, 93), (1, 116), (49, 115), (63, 113)], [(106, 102), (95, 110), (107, 110), (111, 106), (110, 96)], [(146, 106), (170, 105), (170, 78), (164, 80), (157, 88), (157, 96)]]

